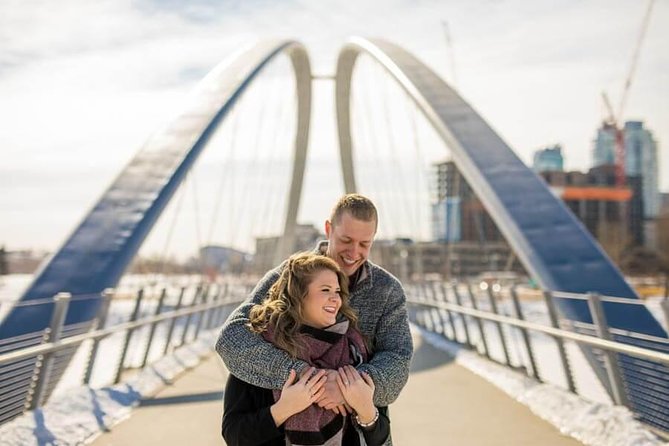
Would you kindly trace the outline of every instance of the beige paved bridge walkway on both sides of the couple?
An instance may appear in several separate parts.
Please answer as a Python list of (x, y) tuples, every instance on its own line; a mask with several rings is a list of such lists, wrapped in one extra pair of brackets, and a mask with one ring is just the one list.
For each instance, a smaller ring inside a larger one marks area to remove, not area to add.
[[(455, 364), (420, 338), (409, 383), (390, 407), (397, 446), (576, 446), (501, 390)], [(142, 402), (94, 446), (222, 445), (220, 420), (227, 371), (212, 354)]]

